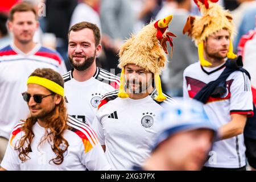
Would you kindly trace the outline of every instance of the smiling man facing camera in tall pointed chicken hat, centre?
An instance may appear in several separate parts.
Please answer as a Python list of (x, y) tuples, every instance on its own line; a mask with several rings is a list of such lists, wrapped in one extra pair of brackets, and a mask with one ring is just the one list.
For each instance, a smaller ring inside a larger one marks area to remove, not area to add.
[(162, 92), (159, 77), (167, 60), (159, 40), (165, 38), (171, 19), (172, 15), (148, 24), (123, 44), (120, 89), (103, 96), (98, 106), (93, 128), (114, 170), (144, 162), (150, 155), (162, 104), (173, 102)]

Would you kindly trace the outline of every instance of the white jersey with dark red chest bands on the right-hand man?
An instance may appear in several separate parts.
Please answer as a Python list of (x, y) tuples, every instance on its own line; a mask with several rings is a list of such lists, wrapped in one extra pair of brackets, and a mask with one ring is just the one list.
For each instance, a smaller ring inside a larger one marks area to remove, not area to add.
[[(193, 98), (210, 81), (224, 71), (222, 64), (215, 68), (201, 67), (200, 63), (189, 65), (184, 71), (183, 96)], [(221, 98), (209, 97), (205, 112), (218, 127), (231, 121), (231, 114), (253, 115), (253, 99), (250, 80), (245, 73), (233, 72), (226, 79), (226, 94)], [(241, 168), (245, 166), (245, 144), (243, 134), (213, 143), (207, 167)]]

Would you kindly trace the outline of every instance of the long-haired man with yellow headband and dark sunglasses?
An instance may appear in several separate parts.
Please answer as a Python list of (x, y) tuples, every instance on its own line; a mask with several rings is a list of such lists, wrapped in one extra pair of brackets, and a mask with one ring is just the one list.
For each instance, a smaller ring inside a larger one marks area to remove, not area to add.
[(2, 170), (109, 170), (94, 131), (68, 116), (64, 80), (52, 69), (36, 69), (22, 93), (30, 117), (14, 127)]

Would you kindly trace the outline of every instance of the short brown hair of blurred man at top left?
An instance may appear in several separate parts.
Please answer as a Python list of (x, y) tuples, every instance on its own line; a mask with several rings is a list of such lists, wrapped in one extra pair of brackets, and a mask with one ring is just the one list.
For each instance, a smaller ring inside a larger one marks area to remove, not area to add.
[(34, 9), (33, 5), (31, 5), (31, 3), (28, 3), (28, 2), (20, 2), (11, 8), (10, 16), (9, 16), (10, 21), (11, 22), (13, 21), (14, 13), (24, 12), (24, 11), (32, 11), (35, 14), (35, 17), (37, 19), (38, 16), (36, 14), (36, 10)]

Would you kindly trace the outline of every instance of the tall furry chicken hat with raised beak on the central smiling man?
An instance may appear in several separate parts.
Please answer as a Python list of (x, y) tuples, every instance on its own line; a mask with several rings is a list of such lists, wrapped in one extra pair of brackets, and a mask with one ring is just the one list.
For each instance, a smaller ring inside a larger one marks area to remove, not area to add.
[(159, 75), (167, 61), (165, 55), (165, 53), (168, 54), (166, 42), (169, 42), (173, 49), (172, 38), (170, 36), (175, 35), (171, 32), (166, 32), (171, 20), (172, 15), (156, 22), (151, 22), (143, 27), (137, 35), (131, 35), (131, 38), (121, 46), (118, 67), (122, 69), (122, 72), (118, 97), (129, 97), (124, 88), (125, 65), (135, 64), (146, 69), (146, 71), (154, 73), (155, 86), (158, 92), (158, 96), (155, 97), (155, 100), (159, 102), (166, 100), (166, 97), (163, 96), (162, 93)]

